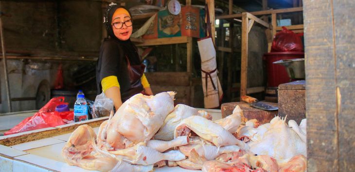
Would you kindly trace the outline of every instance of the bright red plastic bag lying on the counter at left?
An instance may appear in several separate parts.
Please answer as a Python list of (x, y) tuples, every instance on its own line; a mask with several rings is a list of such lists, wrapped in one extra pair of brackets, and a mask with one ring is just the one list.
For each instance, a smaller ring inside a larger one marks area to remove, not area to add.
[(40, 128), (54, 127), (57, 125), (65, 125), (65, 120), (73, 120), (73, 111), (57, 112), (55, 107), (64, 102), (64, 97), (52, 98), (44, 107), (39, 109), (34, 116), (24, 119), (21, 123), (5, 132), (4, 135), (16, 134), (25, 131), (31, 131)]

